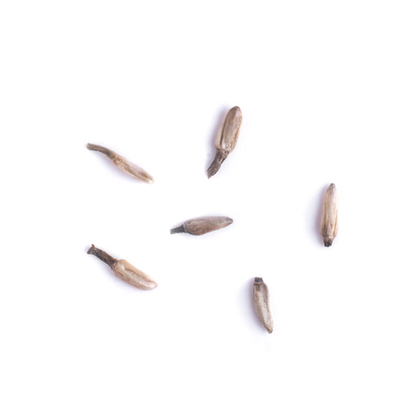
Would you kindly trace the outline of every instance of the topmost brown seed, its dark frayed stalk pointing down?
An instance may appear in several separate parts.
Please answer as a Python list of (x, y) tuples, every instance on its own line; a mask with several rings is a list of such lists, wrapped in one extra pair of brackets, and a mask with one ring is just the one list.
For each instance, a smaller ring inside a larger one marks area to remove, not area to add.
[(214, 176), (216, 172), (218, 172), (221, 163), (226, 160), (230, 152), (233, 152), (237, 138), (239, 137), (241, 124), (242, 111), (238, 106), (235, 106), (227, 112), (227, 115), (224, 118), (224, 122), (216, 135), (216, 153), (214, 161), (212, 161), (211, 166), (207, 170), (208, 178)]

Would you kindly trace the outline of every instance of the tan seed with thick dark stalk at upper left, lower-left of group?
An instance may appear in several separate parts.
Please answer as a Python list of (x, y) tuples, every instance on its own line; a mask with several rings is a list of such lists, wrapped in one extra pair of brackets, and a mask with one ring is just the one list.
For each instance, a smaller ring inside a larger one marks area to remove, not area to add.
[(96, 258), (103, 260), (107, 265), (110, 266), (112, 272), (122, 281), (128, 284), (140, 288), (141, 290), (152, 290), (156, 288), (157, 284), (144, 272), (138, 270), (135, 266), (131, 265), (124, 259), (115, 259), (108, 255), (105, 251), (98, 249), (91, 245), (91, 248), (87, 251), (89, 255), (94, 255)]

